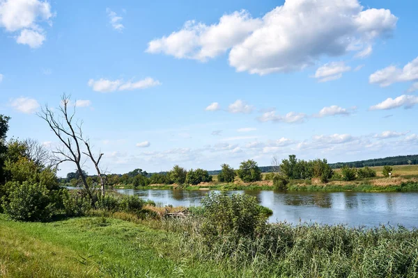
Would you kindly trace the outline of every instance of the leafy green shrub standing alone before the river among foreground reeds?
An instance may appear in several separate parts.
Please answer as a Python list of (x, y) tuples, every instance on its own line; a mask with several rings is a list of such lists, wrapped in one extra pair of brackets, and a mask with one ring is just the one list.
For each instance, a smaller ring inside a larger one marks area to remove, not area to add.
[(256, 198), (249, 195), (210, 193), (202, 199), (201, 234), (206, 243), (222, 235), (256, 236), (267, 220)]

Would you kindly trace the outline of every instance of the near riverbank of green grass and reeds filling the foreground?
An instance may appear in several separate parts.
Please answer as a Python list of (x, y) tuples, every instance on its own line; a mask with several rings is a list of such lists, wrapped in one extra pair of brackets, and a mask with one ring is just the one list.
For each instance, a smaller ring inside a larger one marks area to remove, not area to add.
[(405, 229), (281, 223), (270, 224), (265, 237), (206, 245), (193, 219), (141, 220), (127, 213), (96, 211), (48, 223), (12, 222), (0, 215), (0, 227), (1, 277), (415, 277), (418, 272), (418, 232)]

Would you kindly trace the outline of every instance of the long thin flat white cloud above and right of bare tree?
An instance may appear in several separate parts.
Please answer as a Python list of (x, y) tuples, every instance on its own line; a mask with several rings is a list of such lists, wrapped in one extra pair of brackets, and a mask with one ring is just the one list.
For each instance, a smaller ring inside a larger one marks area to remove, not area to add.
[(154, 80), (150, 77), (137, 82), (123, 82), (121, 79), (114, 81), (108, 79), (88, 80), (87, 85), (93, 88), (96, 92), (114, 92), (116, 90), (138, 90), (161, 85), (160, 81)]

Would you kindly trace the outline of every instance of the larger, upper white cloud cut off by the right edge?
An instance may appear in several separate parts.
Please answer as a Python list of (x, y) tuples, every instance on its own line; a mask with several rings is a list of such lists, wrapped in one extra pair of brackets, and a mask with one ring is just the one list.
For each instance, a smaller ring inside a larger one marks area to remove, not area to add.
[(369, 76), (369, 83), (386, 87), (396, 82), (418, 81), (418, 57), (406, 64), (402, 69), (390, 65)]

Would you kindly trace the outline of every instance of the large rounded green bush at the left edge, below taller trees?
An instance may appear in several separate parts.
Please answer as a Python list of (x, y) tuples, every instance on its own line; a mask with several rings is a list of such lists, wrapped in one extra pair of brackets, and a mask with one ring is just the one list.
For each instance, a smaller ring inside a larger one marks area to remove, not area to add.
[(45, 221), (55, 213), (47, 187), (26, 181), (8, 188), (8, 198), (3, 197), (2, 207), (11, 219), (18, 221)]

